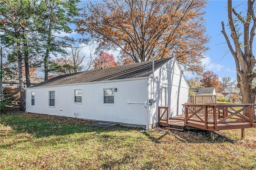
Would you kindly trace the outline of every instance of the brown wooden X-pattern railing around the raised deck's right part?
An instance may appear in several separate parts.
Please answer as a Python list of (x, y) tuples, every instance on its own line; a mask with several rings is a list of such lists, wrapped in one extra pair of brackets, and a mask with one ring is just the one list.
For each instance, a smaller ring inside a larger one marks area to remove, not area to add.
[[(185, 107), (185, 125), (191, 123), (204, 126), (205, 129), (219, 130), (220, 125), (238, 125), (247, 123), (254, 126), (254, 104), (183, 104)], [(249, 117), (243, 115), (248, 110)]]

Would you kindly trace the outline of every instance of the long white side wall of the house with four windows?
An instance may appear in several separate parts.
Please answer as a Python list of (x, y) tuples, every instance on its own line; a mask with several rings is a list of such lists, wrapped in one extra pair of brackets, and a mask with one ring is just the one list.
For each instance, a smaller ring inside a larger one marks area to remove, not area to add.
[[(147, 80), (112, 81), (68, 84), (65, 86), (27, 88), (26, 111), (83, 119), (112, 121), (134, 125), (148, 125)], [(117, 88), (114, 104), (103, 104), (103, 89)], [(74, 103), (74, 90), (82, 89), (82, 104)], [(55, 91), (55, 106), (49, 107), (49, 91)], [(31, 106), (31, 92), (35, 92), (35, 106)], [(139, 103), (139, 104), (128, 104)]]

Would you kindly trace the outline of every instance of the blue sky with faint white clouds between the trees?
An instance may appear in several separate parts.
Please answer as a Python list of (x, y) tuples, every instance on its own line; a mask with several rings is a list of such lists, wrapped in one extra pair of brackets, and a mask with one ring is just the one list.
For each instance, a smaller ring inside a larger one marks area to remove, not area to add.
[[(82, 1), (84, 3), (86, 1)], [(205, 59), (203, 63), (205, 64), (204, 69), (213, 71), (215, 74), (219, 76), (219, 78), (223, 76), (230, 76), (236, 79), (236, 71), (235, 71), (235, 63), (234, 58), (232, 57), (231, 53), (229, 52), (228, 46), (226, 44), (226, 40), (224, 36), (220, 32), (222, 30), (221, 22), (224, 21), (226, 25), (226, 32), (228, 35), (228, 14), (227, 14), (227, 0), (209, 0), (206, 8), (204, 11), (206, 14), (204, 15), (205, 24), (206, 24), (206, 31), (208, 36), (210, 37), (210, 42), (208, 43), (208, 47), (210, 48), (206, 51)], [(242, 0), (233, 0), (233, 6), (237, 6), (238, 4), (240, 7), (246, 7), (246, 1)], [(81, 4), (80, 4), (81, 5)], [(79, 6), (80, 6), (79, 5)], [(237, 12), (240, 12), (241, 9), (237, 9)], [(74, 33), (72, 37), (80, 36), (77, 33)], [(230, 38), (230, 41), (232, 39)], [(255, 43), (254, 43), (255, 44)], [(256, 47), (254, 47), (255, 51)], [(84, 48), (84, 53), (89, 56), (89, 47)], [(114, 56), (118, 55), (117, 52), (110, 52), (113, 53)], [(255, 52), (254, 52), (255, 55)], [(197, 75), (187, 74), (185, 76), (187, 79), (195, 77)]]

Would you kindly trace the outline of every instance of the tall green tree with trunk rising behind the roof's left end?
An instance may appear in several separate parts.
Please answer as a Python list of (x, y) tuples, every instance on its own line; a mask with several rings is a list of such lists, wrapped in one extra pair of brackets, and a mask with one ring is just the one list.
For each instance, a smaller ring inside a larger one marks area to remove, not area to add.
[(63, 47), (70, 47), (73, 39), (57, 33), (71, 33), (70, 25), (75, 23), (75, 18), (79, 16), (79, 8), (76, 3), (80, 0), (44, 0), (38, 6), (38, 16), (36, 26), (40, 32), (42, 43), (38, 53), (43, 53), (44, 80), (48, 79), (48, 66), (50, 55), (66, 53)]

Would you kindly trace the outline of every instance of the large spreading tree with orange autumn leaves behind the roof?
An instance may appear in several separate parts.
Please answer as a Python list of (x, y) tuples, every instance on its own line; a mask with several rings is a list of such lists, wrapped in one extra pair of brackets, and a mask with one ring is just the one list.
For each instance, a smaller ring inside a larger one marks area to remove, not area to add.
[(205, 0), (104, 0), (89, 2), (78, 33), (96, 38), (97, 51), (121, 49), (134, 63), (175, 56), (184, 68), (200, 72), (208, 37)]

